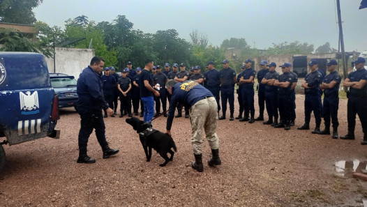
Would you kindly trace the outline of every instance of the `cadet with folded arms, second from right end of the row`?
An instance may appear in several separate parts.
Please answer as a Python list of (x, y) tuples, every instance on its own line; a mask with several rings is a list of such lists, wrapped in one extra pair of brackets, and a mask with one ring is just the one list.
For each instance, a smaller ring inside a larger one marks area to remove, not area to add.
[(333, 139), (338, 139), (338, 108), (339, 108), (339, 85), (341, 75), (336, 71), (338, 63), (336, 60), (330, 60), (327, 65), (329, 75), (325, 76), (320, 88), (324, 90), (324, 107), (322, 114), (324, 116), (325, 128), (319, 135), (330, 135), (330, 116), (333, 123)]

